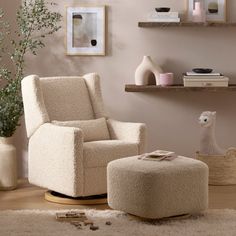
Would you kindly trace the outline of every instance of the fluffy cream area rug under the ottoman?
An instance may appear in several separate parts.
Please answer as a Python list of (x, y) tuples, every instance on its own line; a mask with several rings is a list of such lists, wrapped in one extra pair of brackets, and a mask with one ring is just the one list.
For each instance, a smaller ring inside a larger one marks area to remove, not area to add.
[[(125, 213), (83, 210), (99, 229), (58, 222), (58, 211), (1, 211), (1, 236), (235, 236), (235, 210), (209, 210), (186, 219), (143, 221)], [(63, 211), (59, 211), (63, 212)], [(107, 223), (110, 222), (110, 223)], [(107, 223), (107, 224), (106, 224)]]

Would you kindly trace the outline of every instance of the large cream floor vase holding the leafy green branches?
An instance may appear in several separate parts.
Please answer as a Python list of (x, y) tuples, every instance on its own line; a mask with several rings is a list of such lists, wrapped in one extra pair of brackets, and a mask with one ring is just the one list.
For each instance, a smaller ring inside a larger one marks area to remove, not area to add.
[(0, 137), (0, 190), (13, 190), (16, 186), (16, 148), (12, 138)]

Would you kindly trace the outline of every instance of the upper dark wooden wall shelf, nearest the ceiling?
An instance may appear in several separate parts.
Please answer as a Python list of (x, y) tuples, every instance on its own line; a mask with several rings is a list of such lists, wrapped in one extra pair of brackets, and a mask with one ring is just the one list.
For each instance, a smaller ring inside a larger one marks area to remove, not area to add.
[(149, 28), (149, 27), (236, 27), (236, 23), (195, 23), (195, 22), (168, 22), (168, 23), (162, 23), (162, 22), (139, 22), (139, 27), (143, 28)]

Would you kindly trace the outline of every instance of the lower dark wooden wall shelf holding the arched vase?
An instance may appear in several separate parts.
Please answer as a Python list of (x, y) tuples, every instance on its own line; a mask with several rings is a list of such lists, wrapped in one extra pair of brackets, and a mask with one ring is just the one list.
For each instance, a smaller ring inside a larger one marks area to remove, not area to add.
[(220, 91), (234, 91), (236, 92), (236, 84), (231, 84), (229, 87), (184, 87), (183, 85), (176, 84), (173, 86), (161, 87), (156, 85), (125, 85), (126, 92), (168, 92), (168, 91), (187, 91), (187, 92), (220, 92)]

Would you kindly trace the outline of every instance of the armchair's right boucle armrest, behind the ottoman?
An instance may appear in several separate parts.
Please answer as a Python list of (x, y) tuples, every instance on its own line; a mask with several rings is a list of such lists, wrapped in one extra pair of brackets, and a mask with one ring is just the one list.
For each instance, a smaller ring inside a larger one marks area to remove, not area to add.
[(139, 154), (145, 152), (147, 140), (145, 124), (121, 122), (108, 119), (107, 125), (112, 139), (137, 143), (139, 147)]

